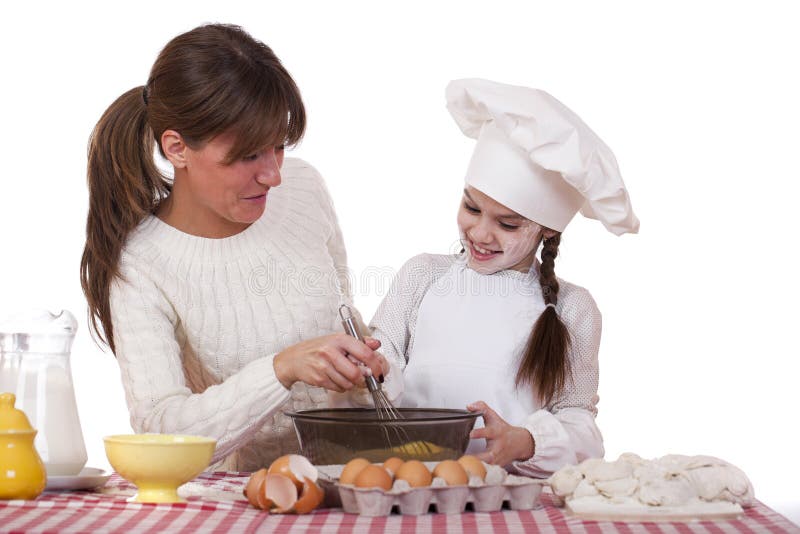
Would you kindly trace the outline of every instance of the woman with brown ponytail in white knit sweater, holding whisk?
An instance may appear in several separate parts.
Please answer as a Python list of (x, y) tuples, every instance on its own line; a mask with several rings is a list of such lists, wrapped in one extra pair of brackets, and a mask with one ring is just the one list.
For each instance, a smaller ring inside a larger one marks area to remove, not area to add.
[(280, 409), (363, 383), (348, 355), (388, 372), (378, 342), (341, 333), (350, 295), (333, 205), (312, 167), (284, 161), (304, 128), (272, 50), (213, 24), (170, 41), (90, 140), (81, 283), (131, 424), (214, 437), (225, 469), (296, 452)]

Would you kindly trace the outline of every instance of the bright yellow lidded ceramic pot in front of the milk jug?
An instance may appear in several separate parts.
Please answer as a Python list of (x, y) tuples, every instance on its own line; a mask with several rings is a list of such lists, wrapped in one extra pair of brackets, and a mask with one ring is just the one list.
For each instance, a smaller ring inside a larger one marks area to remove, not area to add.
[(35, 499), (47, 485), (44, 464), (33, 446), (36, 431), (14, 408), (16, 397), (0, 393), (0, 499)]

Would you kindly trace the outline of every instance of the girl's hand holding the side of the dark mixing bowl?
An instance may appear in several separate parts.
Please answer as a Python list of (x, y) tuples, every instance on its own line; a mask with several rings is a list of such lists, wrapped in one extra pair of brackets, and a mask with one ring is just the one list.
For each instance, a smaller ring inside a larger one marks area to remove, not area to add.
[(505, 466), (514, 460), (527, 460), (536, 449), (533, 436), (526, 428), (508, 424), (483, 401), (467, 405), (471, 412), (483, 412), (483, 428), (470, 432), (472, 439), (486, 439), (486, 450), (476, 454), (489, 464)]

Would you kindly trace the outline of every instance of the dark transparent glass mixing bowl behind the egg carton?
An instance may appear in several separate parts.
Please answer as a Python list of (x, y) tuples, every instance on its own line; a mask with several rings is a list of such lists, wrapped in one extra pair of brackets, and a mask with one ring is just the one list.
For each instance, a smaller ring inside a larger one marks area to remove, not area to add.
[(344, 464), (353, 458), (383, 462), (459, 458), (482, 412), (445, 408), (396, 408), (402, 419), (380, 419), (369, 408), (286, 412), (294, 421), (301, 453), (316, 465)]

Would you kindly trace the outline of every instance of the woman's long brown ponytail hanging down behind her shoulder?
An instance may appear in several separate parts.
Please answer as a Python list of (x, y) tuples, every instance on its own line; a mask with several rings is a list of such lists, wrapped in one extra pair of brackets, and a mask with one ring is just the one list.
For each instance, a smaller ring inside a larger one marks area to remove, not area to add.
[(171, 183), (153, 158), (155, 139), (147, 122), (146, 92), (136, 87), (103, 113), (89, 139), (89, 215), (81, 257), (81, 287), (89, 322), (114, 351), (109, 293), (119, 275), (128, 234), (169, 195)]

